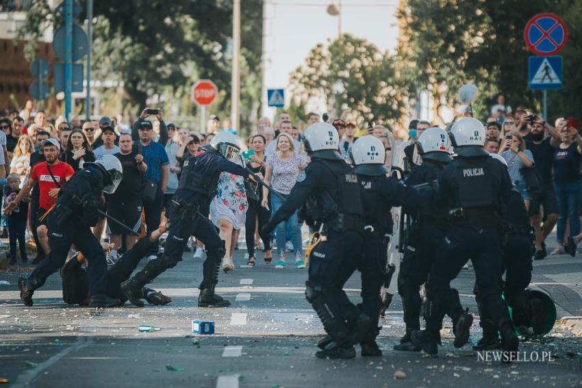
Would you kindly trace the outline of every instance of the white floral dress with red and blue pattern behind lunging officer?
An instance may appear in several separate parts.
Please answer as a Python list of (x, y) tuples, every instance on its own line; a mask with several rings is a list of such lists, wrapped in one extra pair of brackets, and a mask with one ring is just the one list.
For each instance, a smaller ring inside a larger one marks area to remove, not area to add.
[(218, 178), (216, 196), (210, 203), (210, 220), (218, 227), (218, 219), (229, 221), (234, 229), (240, 229), (246, 220), (246, 199), (244, 179), (229, 172), (221, 172)]

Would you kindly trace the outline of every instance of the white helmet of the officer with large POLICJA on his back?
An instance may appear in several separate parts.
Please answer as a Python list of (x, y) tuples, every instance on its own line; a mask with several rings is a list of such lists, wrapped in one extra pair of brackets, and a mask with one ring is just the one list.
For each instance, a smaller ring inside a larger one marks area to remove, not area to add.
[(485, 127), (477, 118), (466, 117), (457, 120), (448, 133), (454, 151), (461, 157), (485, 156)]

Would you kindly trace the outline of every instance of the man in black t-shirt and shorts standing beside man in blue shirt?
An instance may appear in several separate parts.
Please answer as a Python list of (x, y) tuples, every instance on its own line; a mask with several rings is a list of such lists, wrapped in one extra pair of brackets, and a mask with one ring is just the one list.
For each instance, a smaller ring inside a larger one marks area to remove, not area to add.
[[(142, 174), (146, 172), (147, 165), (144, 157), (132, 149), (132, 140), (129, 133), (122, 133), (119, 137), (120, 153), (114, 156), (121, 161), (123, 167), (123, 179), (116, 192), (107, 196), (107, 214), (128, 225), (131, 229), (140, 231), (142, 226)], [(110, 233), (110, 242), (115, 246), (121, 246), (123, 230), (113, 222), (107, 222), (107, 232)], [(136, 244), (135, 235), (125, 236), (125, 246), (129, 250)], [(116, 251), (112, 250), (110, 257), (116, 259)]]

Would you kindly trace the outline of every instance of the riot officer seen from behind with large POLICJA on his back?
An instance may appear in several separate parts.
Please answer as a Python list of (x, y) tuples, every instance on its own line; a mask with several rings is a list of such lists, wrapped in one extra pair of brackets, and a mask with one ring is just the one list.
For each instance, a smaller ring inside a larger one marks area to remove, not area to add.
[(429, 274), (427, 328), (413, 331), (410, 337), (425, 352), (438, 353), (451, 280), (471, 259), (483, 305), (501, 332), (503, 361), (509, 361), (519, 340), (498, 280), (502, 273), (502, 211), (509, 201), (511, 181), (503, 165), (483, 150), (485, 128), (479, 120), (458, 120), (451, 127), (450, 138), (458, 157), (440, 175), (435, 205), (451, 209), (451, 231), (440, 244)]

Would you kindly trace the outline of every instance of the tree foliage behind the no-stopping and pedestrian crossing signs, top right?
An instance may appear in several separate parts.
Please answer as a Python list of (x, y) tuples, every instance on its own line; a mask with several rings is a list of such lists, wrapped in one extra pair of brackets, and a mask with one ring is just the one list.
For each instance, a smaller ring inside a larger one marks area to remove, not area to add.
[(540, 92), (527, 84), (527, 51), (524, 27), (532, 16), (554, 12), (562, 16), (570, 37), (564, 55), (564, 90), (549, 92), (553, 115), (572, 115), (582, 103), (577, 85), (582, 81), (577, 61), (582, 59), (582, 2), (531, 0), (457, 1), (409, 0), (399, 15), (403, 37), (398, 47), (398, 70), (408, 86), (403, 92), (416, 96), (428, 89), (440, 105), (454, 105), (459, 86), (472, 81), (479, 87), (477, 115), (503, 92), (514, 107), (540, 110)]

